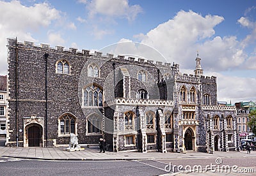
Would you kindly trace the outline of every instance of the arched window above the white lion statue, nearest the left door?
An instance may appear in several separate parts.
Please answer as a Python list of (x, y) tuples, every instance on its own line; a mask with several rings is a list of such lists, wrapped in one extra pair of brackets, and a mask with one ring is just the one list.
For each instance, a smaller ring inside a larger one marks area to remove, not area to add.
[(76, 134), (76, 117), (70, 114), (64, 114), (59, 119), (60, 135)]

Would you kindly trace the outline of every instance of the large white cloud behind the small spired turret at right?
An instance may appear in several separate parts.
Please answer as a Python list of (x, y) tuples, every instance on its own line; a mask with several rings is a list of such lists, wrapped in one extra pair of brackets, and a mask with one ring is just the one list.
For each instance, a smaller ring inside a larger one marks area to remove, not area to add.
[(202, 17), (181, 10), (168, 22), (135, 37), (143, 38), (142, 43), (156, 48), (169, 62), (176, 62), (184, 69), (194, 68), (198, 50), (205, 70), (223, 71), (236, 68), (246, 58), (236, 36), (214, 37), (214, 27), (223, 20), (217, 15)]

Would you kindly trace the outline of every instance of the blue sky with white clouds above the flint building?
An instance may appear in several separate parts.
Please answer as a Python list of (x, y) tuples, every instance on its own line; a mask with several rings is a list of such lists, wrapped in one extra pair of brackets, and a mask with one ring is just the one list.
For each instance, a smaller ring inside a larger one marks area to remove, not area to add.
[(0, 75), (7, 73), (6, 38), (92, 51), (136, 41), (182, 73), (193, 73), (198, 50), (204, 75), (217, 77), (218, 101), (256, 99), (254, 0), (0, 0), (0, 11)]

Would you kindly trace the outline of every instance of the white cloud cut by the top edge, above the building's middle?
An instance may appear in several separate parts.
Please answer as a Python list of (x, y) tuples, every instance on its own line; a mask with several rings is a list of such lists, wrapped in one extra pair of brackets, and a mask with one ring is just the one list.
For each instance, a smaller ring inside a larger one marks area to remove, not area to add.
[(90, 1), (87, 5), (90, 17), (100, 14), (108, 17), (125, 17), (128, 20), (134, 20), (138, 13), (142, 12), (141, 6), (138, 4), (130, 6), (128, 0), (95, 0)]

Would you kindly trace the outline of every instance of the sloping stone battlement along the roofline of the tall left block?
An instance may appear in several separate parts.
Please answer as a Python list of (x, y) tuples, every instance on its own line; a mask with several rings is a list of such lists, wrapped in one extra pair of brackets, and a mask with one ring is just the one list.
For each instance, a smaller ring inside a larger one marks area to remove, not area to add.
[[(49, 53), (61, 53), (61, 54), (67, 54), (67, 55), (77, 55), (77, 56), (84, 56), (84, 57), (91, 57), (93, 59), (103, 59), (103, 60), (109, 60), (109, 59), (115, 59), (115, 60), (124, 60), (124, 61), (130, 61), (130, 62), (135, 62), (136, 64), (138, 63), (144, 63), (144, 64), (150, 64), (154, 65), (156, 67), (163, 67), (163, 68), (173, 68), (173, 70), (179, 70), (179, 64), (173, 64), (171, 66), (170, 63), (163, 63), (159, 61), (152, 61), (152, 60), (147, 60), (144, 58), (135, 58), (135, 57), (127, 57), (125, 58), (124, 55), (117, 55), (115, 56), (114, 54), (109, 54), (107, 53), (106, 55), (102, 55), (102, 52), (97, 52), (95, 51), (94, 54), (91, 53), (90, 50), (81, 50), (78, 51), (77, 48), (69, 48), (68, 50), (65, 50), (65, 47), (61, 46), (56, 46), (55, 48), (50, 47), (49, 44), (46, 43), (40, 43), (40, 46), (34, 45), (34, 42), (32, 41), (24, 41), (24, 43), (18, 42), (18, 47), (19, 48), (28, 48), (30, 50), (41, 50), (44, 52), (49, 52)], [(14, 38), (8, 38), (8, 47), (16, 47), (16, 40)]]

